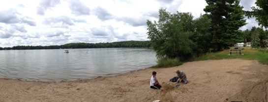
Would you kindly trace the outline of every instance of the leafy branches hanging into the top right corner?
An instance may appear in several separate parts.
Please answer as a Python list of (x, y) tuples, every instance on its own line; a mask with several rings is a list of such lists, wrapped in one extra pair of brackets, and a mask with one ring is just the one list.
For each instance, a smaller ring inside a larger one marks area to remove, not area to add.
[(246, 15), (255, 17), (259, 25), (268, 28), (268, 0), (256, 0), (255, 4), (256, 7), (251, 7), (252, 11), (245, 11)]

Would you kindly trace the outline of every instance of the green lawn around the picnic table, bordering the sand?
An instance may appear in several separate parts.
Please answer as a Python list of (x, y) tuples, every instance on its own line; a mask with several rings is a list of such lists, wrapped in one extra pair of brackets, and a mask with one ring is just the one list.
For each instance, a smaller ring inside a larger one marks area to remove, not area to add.
[(221, 59), (256, 60), (262, 64), (268, 65), (268, 49), (252, 49), (251, 47), (243, 47), (241, 50), (241, 55), (239, 54), (230, 55), (230, 50), (226, 49), (216, 53), (207, 53), (203, 56), (193, 59), (192, 61), (221, 60)]

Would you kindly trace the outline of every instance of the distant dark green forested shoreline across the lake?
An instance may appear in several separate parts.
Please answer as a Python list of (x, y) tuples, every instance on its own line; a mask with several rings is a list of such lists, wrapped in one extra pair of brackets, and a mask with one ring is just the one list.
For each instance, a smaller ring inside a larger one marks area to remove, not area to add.
[(100, 42), (100, 43), (67, 43), (64, 45), (51, 46), (13, 46), (0, 47), (0, 50), (26, 50), (26, 49), (60, 49), (60, 48), (118, 48), (118, 47), (150, 47), (150, 41), (120, 41), (120, 42)]

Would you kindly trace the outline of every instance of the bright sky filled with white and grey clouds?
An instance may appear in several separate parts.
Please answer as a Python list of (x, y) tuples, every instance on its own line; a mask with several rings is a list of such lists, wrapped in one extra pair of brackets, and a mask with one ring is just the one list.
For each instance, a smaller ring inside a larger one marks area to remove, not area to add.
[[(255, 1), (240, 5), (251, 10)], [(159, 8), (198, 18), (206, 5), (205, 0), (3, 0), (0, 47), (149, 41), (146, 21), (157, 21)], [(254, 18), (246, 22), (241, 30), (258, 26)]]

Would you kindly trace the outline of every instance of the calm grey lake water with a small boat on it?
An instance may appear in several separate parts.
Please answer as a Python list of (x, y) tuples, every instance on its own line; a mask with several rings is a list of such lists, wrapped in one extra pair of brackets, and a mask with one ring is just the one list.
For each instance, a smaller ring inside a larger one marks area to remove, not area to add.
[(0, 50), (0, 78), (66, 81), (111, 76), (156, 65), (148, 48)]

